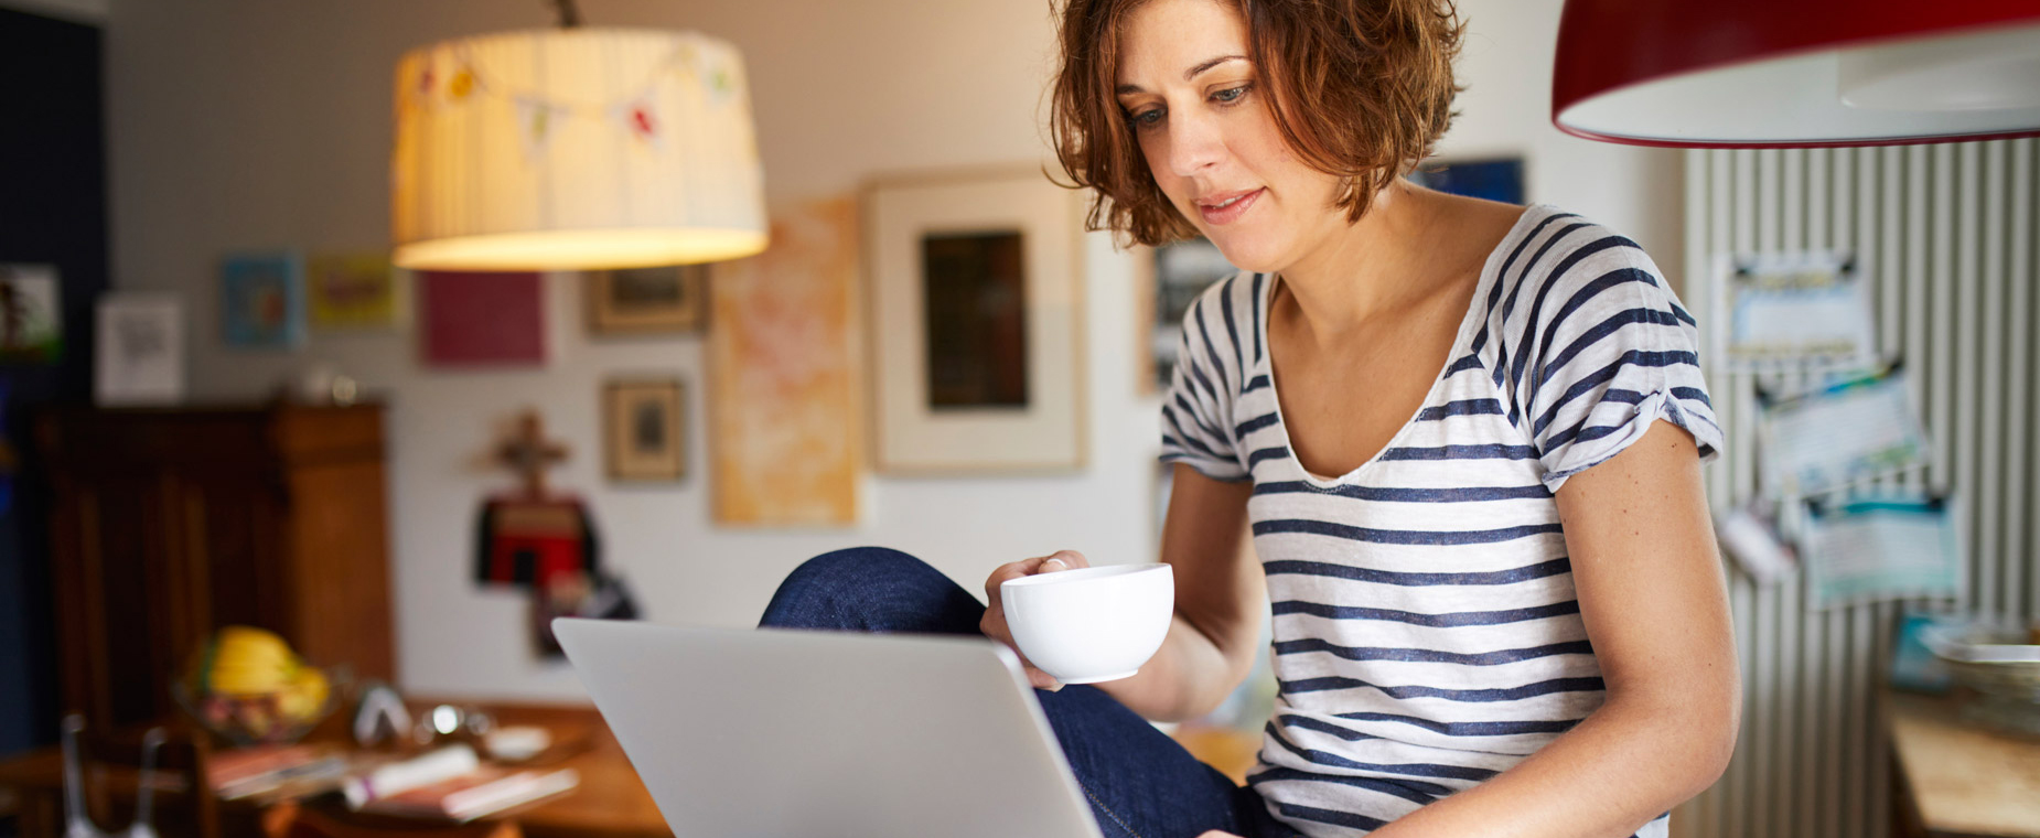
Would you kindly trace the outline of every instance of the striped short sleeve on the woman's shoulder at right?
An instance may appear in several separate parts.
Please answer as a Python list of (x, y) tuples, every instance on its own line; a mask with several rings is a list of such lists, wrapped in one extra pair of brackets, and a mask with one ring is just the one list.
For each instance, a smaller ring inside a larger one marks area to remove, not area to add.
[(1699, 326), (1636, 243), (1587, 226), (1540, 277), (1506, 365), (1544, 485), (1605, 463), (1656, 420), (1693, 434), (1701, 461), (1722, 451)]

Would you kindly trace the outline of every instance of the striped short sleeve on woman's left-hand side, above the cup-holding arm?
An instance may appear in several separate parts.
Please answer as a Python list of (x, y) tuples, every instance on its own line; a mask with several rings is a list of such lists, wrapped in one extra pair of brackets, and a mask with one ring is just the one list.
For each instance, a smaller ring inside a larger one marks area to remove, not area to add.
[(1234, 279), (1204, 292), (1183, 314), (1175, 371), (1161, 406), (1161, 461), (1183, 463), (1216, 481), (1248, 477), (1234, 438), (1232, 406), (1244, 361), (1242, 341), (1255, 324), (1244, 320)]

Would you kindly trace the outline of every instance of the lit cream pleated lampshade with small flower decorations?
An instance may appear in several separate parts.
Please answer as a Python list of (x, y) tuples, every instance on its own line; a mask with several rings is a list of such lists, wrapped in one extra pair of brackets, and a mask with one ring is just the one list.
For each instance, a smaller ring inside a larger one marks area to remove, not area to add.
[(414, 49), (396, 69), (394, 261), (614, 269), (765, 249), (736, 47), (551, 29)]

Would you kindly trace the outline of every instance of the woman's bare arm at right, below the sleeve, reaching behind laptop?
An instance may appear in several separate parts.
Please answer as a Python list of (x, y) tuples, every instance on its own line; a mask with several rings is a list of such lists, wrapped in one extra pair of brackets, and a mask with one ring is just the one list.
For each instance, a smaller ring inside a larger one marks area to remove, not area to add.
[(1608, 701), (1377, 838), (1628, 836), (1728, 767), (1742, 685), (1693, 436), (1656, 422), (1559, 487), (1559, 518)]

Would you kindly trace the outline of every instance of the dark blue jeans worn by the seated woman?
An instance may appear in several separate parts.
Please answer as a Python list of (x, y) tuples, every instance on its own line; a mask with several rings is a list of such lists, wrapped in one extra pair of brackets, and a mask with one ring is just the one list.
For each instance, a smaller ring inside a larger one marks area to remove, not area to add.
[[(979, 634), (985, 606), (900, 551), (859, 546), (808, 559), (773, 593), (759, 626), (847, 632)], [(1091, 816), (1108, 838), (1195, 838), (1224, 830), (1289, 838), (1261, 795), (1232, 785), (1095, 687), (1036, 689)]]

